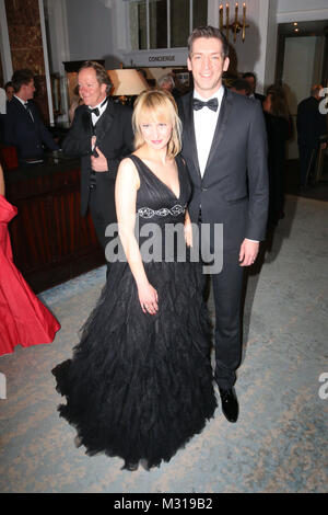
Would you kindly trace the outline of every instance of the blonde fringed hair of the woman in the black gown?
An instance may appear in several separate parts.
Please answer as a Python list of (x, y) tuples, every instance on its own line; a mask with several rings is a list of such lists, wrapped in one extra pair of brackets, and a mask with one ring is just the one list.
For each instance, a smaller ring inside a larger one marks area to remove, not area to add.
[(172, 94), (164, 90), (147, 90), (140, 93), (136, 100), (132, 116), (136, 150), (144, 145), (140, 124), (141, 118), (148, 115), (154, 122), (172, 124), (173, 129), (167, 145), (167, 157), (175, 158), (181, 150), (181, 122)]

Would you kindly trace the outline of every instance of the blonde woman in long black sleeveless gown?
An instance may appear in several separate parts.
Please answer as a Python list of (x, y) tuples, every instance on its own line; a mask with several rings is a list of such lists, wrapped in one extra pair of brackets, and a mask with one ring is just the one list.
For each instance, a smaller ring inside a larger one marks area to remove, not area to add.
[(216, 407), (201, 264), (188, 247), (191, 188), (169, 93), (143, 92), (133, 129), (136, 151), (116, 180), (126, 260), (110, 265), (72, 359), (52, 370), (67, 397), (60, 415), (79, 444), (89, 455), (121, 457), (129, 470), (168, 461)]

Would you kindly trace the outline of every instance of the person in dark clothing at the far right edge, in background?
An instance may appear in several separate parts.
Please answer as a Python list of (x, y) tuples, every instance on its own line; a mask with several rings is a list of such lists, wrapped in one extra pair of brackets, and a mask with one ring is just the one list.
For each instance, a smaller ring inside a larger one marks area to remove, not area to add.
[(320, 84), (313, 85), (311, 96), (297, 106), (301, 191), (306, 188), (315, 172), (319, 149), (327, 148), (327, 115), (319, 111), (321, 89)]

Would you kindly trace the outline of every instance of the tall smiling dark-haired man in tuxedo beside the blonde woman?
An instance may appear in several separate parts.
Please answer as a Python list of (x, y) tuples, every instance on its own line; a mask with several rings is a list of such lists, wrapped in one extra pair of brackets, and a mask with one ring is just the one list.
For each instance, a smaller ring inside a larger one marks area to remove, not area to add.
[[(223, 413), (238, 417), (234, 384), (242, 355), (241, 296), (243, 272), (258, 254), (268, 213), (267, 138), (259, 102), (222, 85), (229, 69), (229, 44), (211, 26), (195, 28), (188, 41), (188, 69), (195, 90), (180, 99), (183, 156), (194, 193), (194, 224), (223, 225), (223, 266), (212, 274), (215, 304), (215, 373)], [(202, 241), (203, 243), (203, 241)]]

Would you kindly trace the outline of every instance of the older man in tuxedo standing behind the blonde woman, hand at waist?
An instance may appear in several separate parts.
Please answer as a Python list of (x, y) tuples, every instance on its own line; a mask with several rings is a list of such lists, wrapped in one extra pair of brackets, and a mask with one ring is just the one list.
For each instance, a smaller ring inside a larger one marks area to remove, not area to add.
[(96, 61), (85, 61), (78, 73), (84, 105), (75, 110), (62, 150), (81, 157), (81, 215), (87, 207), (101, 244), (109, 241), (106, 227), (117, 220), (115, 179), (120, 160), (133, 150), (132, 110), (108, 96), (107, 71)]

